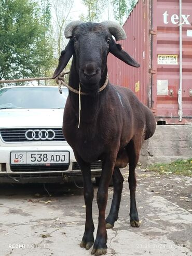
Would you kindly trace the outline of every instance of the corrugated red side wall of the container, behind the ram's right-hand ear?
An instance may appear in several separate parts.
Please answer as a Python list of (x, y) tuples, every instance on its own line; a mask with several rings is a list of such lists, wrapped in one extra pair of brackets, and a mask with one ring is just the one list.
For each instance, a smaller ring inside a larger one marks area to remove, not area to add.
[(114, 85), (128, 87), (145, 104), (150, 106), (149, 83), (149, 1), (136, 4), (123, 28), (127, 39), (118, 43), (138, 63), (140, 68), (133, 68), (114, 57), (108, 55), (107, 66), (109, 80)]

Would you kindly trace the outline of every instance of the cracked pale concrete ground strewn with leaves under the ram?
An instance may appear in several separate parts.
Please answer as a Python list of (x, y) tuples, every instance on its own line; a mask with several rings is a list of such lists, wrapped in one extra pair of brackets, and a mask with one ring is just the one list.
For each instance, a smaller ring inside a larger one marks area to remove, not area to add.
[[(106, 255), (192, 256), (192, 178), (138, 169), (136, 201), (142, 223), (133, 228), (129, 224), (128, 173), (123, 170), (122, 174), (119, 219), (107, 230)], [(97, 189), (94, 186), (94, 237)], [(0, 185), (0, 255), (90, 255), (91, 249), (79, 247), (85, 224), (83, 190), (74, 183), (47, 184), (46, 190), (43, 184)], [(107, 212), (112, 197), (113, 187), (109, 187)]]

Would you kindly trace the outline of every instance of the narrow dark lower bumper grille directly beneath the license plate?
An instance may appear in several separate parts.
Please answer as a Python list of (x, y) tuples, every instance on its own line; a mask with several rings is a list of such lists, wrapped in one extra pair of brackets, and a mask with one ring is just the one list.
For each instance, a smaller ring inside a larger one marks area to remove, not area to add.
[(36, 171), (66, 171), (68, 170), (68, 165), (52, 165), (52, 166), (10, 166), (11, 171), (13, 172), (36, 172)]

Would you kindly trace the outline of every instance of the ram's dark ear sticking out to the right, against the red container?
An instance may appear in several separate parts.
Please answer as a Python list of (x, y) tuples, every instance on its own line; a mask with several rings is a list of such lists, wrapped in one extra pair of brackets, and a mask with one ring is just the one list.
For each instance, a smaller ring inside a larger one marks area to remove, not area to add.
[(135, 68), (140, 67), (140, 64), (136, 62), (130, 55), (128, 55), (126, 51), (122, 50), (121, 45), (116, 44), (113, 38), (111, 40), (111, 43), (109, 44), (109, 52), (111, 52), (119, 60), (124, 61), (130, 66), (134, 66)]

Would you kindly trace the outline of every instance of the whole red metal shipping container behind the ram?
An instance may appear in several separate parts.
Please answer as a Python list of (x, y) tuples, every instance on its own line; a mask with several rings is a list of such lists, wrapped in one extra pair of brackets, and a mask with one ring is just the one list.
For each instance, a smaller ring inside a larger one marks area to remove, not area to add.
[(108, 55), (112, 84), (130, 88), (158, 124), (192, 124), (192, 1), (139, 0), (118, 43), (140, 63)]

